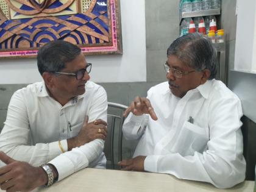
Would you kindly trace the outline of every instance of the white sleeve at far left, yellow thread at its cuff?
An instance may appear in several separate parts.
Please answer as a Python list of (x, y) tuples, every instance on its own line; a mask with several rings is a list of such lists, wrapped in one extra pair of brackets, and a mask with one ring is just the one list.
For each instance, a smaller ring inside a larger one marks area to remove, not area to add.
[[(24, 97), (22, 91), (18, 90), (10, 99), (7, 118), (0, 135), (0, 150), (15, 160), (39, 166), (57, 157), (61, 151), (58, 141), (30, 146), (30, 127)], [(1, 161), (0, 163), (1, 166), (5, 165)]]

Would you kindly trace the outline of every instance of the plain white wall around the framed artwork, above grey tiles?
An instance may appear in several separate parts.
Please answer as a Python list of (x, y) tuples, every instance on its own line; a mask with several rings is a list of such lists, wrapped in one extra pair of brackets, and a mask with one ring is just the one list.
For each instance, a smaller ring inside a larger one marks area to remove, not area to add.
[[(120, 0), (123, 55), (90, 55), (94, 82), (145, 82), (145, 0)], [(41, 80), (36, 59), (0, 59), (0, 84)]]

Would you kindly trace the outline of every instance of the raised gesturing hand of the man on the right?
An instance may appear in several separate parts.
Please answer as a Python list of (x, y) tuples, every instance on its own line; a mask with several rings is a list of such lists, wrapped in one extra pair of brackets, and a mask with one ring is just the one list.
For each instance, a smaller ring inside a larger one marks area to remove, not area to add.
[(154, 108), (151, 106), (151, 102), (147, 98), (136, 97), (130, 106), (124, 112), (126, 117), (130, 112), (134, 115), (149, 114), (152, 119), (157, 120), (157, 115), (155, 115)]

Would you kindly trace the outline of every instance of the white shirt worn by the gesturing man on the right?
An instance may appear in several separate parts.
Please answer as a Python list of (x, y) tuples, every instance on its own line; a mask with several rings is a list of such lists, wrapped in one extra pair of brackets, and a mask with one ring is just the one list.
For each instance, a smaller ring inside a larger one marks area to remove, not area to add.
[(147, 156), (145, 171), (210, 182), (219, 188), (244, 180), (241, 102), (226, 85), (207, 80), (180, 99), (164, 82), (148, 91), (148, 99), (158, 120), (130, 113), (123, 126), (127, 140), (140, 138), (134, 157)]

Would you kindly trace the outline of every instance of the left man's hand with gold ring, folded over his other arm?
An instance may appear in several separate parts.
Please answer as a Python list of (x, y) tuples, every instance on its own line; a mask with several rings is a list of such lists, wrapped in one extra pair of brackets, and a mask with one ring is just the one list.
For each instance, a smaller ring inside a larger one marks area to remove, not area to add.
[(105, 140), (107, 137), (107, 123), (102, 119), (96, 119), (95, 121), (88, 123), (88, 116), (85, 116), (84, 124), (76, 137), (69, 138), (68, 151), (73, 148), (80, 147), (85, 143), (96, 139)]

